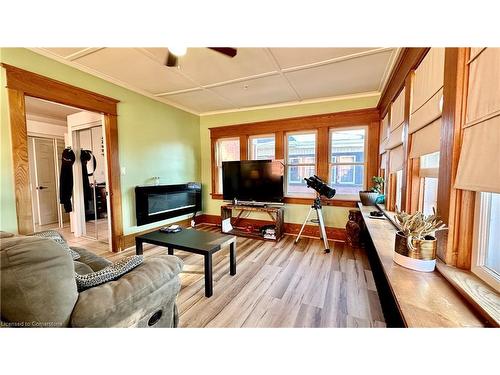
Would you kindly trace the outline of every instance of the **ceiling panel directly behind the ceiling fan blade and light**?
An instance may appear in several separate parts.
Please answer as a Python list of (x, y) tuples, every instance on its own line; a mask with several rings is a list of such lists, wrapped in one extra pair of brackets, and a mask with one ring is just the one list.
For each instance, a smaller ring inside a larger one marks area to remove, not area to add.
[(276, 71), (276, 65), (264, 48), (238, 48), (230, 58), (208, 48), (189, 48), (179, 58), (181, 71), (200, 85)]

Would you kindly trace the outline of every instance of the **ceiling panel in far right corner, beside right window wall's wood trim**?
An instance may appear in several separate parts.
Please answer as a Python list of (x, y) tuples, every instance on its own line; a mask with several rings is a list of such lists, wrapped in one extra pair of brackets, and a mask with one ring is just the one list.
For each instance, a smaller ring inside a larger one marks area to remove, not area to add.
[(377, 91), (392, 51), (285, 73), (303, 99)]

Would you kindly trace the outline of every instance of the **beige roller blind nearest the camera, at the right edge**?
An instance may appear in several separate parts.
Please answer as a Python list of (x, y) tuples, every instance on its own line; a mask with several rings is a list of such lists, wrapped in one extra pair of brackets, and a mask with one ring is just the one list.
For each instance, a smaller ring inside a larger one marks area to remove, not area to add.
[(500, 193), (500, 49), (486, 48), (470, 61), (455, 188)]

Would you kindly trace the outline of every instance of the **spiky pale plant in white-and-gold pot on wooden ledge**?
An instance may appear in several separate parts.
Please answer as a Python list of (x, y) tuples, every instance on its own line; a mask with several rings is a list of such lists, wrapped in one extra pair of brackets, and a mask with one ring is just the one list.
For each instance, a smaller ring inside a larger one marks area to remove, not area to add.
[(446, 225), (434, 214), (422, 212), (394, 215), (399, 231), (396, 233), (394, 262), (416, 271), (432, 272), (436, 267), (437, 241), (434, 233), (445, 230)]

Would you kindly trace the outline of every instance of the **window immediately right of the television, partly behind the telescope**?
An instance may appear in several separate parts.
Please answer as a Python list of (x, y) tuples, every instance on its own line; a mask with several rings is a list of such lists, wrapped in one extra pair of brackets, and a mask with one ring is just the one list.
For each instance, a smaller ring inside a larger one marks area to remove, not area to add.
[(287, 196), (311, 196), (304, 178), (316, 174), (316, 132), (288, 133), (286, 135)]

